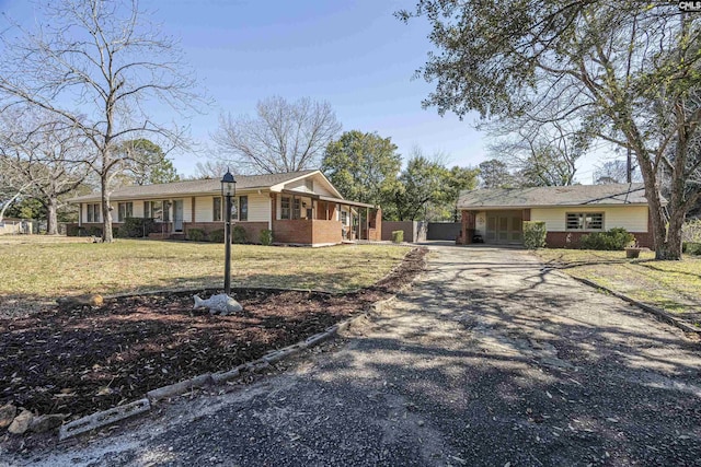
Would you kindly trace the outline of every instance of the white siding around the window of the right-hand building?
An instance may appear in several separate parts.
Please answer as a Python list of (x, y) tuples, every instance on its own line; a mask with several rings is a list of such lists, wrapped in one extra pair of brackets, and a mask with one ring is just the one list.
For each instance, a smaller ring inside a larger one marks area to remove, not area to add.
[[(531, 221), (544, 221), (549, 232), (565, 232), (567, 212), (604, 212), (604, 230), (624, 227), (629, 232), (647, 232), (646, 206), (532, 208)], [(573, 231), (574, 232), (574, 231)]]

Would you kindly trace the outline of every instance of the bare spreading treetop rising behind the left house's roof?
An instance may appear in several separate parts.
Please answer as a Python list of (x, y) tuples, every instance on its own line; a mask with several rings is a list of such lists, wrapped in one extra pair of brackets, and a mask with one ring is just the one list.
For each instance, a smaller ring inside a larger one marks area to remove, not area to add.
[(308, 97), (289, 103), (274, 96), (260, 101), (257, 116), (221, 116), (214, 140), (244, 174), (274, 174), (318, 168), (341, 124), (326, 102)]

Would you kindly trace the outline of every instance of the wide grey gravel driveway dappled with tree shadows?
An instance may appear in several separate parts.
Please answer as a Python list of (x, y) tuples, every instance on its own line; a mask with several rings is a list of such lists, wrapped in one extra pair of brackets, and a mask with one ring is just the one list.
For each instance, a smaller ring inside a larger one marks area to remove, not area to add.
[(12, 462), (701, 465), (698, 342), (524, 250), (437, 246), (428, 261), (285, 372)]

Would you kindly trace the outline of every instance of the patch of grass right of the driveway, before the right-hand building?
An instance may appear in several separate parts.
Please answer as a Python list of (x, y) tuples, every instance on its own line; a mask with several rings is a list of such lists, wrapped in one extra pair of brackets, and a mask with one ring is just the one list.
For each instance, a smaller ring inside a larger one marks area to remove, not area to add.
[(691, 322), (701, 318), (701, 257), (685, 255), (681, 261), (656, 261), (653, 252), (628, 259), (625, 252), (540, 249), (543, 262), (588, 279)]

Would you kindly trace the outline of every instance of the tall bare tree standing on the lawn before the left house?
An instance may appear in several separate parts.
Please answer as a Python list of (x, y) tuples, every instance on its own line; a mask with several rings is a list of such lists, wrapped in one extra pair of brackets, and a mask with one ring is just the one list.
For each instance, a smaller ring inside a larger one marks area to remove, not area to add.
[[(154, 121), (149, 109), (192, 109), (193, 73), (173, 39), (163, 37), (136, 0), (46, 2), (38, 30), (7, 30), (1, 37), (2, 110), (32, 105), (69, 121), (92, 145), (88, 161), (100, 178), (103, 240), (112, 242), (110, 182), (120, 165), (116, 147), (148, 137), (161, 148), (184, 145), (176, 125)], [(168, 151), (165, 151), (168, 152)]]

